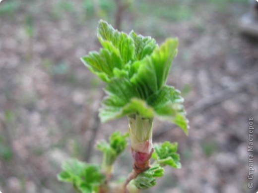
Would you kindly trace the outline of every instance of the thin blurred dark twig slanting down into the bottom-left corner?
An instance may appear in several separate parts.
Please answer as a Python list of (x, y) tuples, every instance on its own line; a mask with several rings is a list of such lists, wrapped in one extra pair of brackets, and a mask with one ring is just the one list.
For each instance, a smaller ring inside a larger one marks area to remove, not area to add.
[(12, 153), (14, 155), (14, 159), (17, 163), (17, 165), (22, 166), (23, 168), (23, 172), (24, 174), (33, 181), (33, 183), (36, 185), (37, 187), (37, 193), (42, 193), (41, 191), (41, 182), (38, 179), (38, 177), (34, 174), (33, 170), (31, 169), (31, 167), (26, 164), (26, 162), (20, 157), (20, 155), (16, 152), (13, 143), (12, 143), (12, 137), (11, 134), (9, 132), (8, 126), (5, 122), (5, 120), (0, 116), (0, 127), (3, 129), (4, 132), (4, 137), (7, 141), (7, 144), (10, 146)]

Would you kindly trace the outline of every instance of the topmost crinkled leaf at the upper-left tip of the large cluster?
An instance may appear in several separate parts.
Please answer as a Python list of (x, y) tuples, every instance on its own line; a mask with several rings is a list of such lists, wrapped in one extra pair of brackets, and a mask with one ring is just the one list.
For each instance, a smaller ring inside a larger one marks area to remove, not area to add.
[(107, 43), (110, 42), (119, 50), (124, 64), (136, 59), (133, 40), (126, 33), (119, 32), (107, 22), (100, 20), (97, 36), (103, 48), (111, 49)]

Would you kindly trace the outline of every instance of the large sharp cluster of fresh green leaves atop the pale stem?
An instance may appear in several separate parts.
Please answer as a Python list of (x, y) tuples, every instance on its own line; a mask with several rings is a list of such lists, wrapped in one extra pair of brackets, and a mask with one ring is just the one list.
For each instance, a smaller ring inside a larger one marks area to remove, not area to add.
[(178, 39), (167, 39), (158, 46), (154, 39), (115, 30), (100, 20), (97, 37), (103, 48), (81, 58), (89, 70), (107, 83), (102, 101), (102, 121), (129, 114), (169, 120), (187, 133), (188, 120), (183, 98), (167, 86), (171, 62), (178, 50)]

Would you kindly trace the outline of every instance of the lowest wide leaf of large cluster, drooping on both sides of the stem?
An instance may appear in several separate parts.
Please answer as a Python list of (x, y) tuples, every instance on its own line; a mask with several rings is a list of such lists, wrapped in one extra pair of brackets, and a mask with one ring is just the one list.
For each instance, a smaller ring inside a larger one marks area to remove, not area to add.
[(138, 93), (126, 79), (113, 79), (107, 85), (106, 97), (100, 109), (103, 122), (120, 118), (128, 114), (137, 113), (142, 117), (169, 120), (188, 134), (188, 120), (183, 106), (184, 99), (174, 87), (164, 86), (152, 94), (146, 101), (137, 98)]

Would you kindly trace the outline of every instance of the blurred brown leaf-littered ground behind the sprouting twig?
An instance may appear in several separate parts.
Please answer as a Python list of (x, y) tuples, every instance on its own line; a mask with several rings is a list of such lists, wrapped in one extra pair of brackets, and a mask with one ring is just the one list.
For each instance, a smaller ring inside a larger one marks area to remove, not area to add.
[[(191, 130), (187, 137), (155, 120), (153, 141), (179, 142), (182, 169), (166, 168), (158, 185), (143, 192), (256, 193), (258, 128), (252, 181), (247, 150), (249, 117), (258, 123), (258, 40), (239, 28), (250, 6), (248, 0), (2, 0), (0, 191), (73, 193), (57, 181), (62, 161), (99, 163), (95, 142), (127, 132), (126, 118), (99, 122), (104, 84), (79, 59), (99, 50), (102, 18), (159, 44), (168, 37), (180, 42), (168, 84), (182, 91)], [(131, 170), (129, 151), (114, 179)]]

